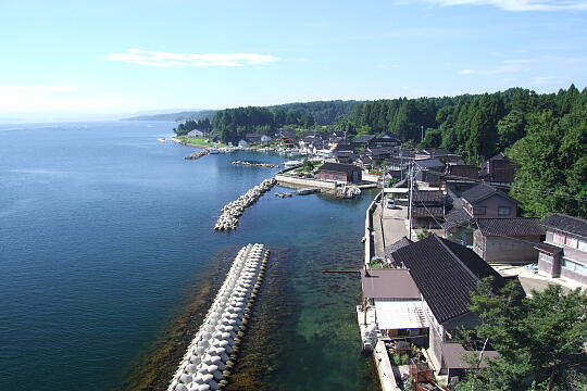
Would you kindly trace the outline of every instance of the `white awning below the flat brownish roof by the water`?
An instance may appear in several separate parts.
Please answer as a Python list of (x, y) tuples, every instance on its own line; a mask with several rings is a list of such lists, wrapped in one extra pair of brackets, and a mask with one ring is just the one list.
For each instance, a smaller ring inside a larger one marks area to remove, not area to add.
[(375, 315), (379, 330), (415, 329), (428, 327), (421, 301), (375, 300)]

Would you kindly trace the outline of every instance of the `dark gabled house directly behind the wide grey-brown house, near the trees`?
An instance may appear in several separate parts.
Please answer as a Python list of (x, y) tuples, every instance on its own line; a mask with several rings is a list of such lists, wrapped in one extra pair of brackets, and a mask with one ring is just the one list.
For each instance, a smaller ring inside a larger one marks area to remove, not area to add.
[(478, 184), (461, 193), (465, 211), (473, 217), (515, 217), (517, 201), (487, 184)]

